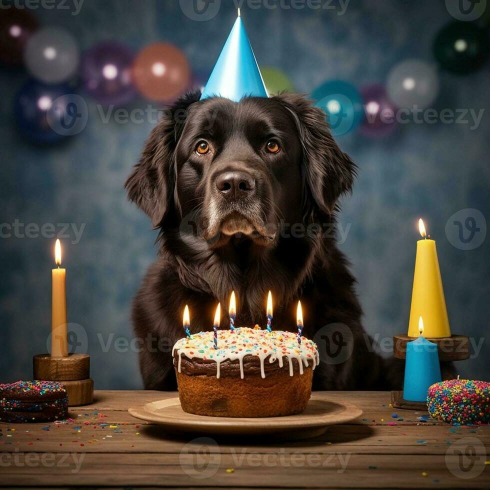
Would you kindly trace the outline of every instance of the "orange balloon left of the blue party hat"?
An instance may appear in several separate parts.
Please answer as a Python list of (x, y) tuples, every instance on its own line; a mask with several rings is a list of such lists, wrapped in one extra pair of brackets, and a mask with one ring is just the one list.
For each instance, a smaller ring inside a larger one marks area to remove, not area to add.
[(169, 101), (189, 87), (190, 68), (184, 53), (176, 46), (155, 42), (136, 55), (133, 76), (142, 95)]

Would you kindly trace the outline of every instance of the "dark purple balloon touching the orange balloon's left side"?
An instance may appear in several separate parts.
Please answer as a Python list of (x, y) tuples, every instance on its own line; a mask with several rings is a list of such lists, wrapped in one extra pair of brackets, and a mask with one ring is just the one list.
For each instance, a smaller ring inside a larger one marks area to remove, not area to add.
[(125, 105), (137, 94), (132, 85), (134, 53), (118, 42), (102, 42), (83, 54), (83, 88), (103, 105)]

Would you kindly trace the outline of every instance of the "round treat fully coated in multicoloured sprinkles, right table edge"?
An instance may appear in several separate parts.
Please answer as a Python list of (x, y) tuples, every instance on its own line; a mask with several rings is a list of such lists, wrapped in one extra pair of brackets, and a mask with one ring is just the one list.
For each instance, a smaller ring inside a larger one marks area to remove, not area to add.
[(432, 418), (454, 425), (490, 422), (490, 383), (450, 379), (432, 384), (427, 392)]

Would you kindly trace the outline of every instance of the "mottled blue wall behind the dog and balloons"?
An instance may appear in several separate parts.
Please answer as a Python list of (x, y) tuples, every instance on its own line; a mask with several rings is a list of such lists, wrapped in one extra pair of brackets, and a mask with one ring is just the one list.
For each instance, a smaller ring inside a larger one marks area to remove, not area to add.
[[(75, 16), (34, 13), (43, 24), (68, 28), (82, 48), (107, 38), (134, 48), (161, 39), (180, 46), (194, 69), (206, 71), (235, 16), (231, 1), (221, 3), (207, 22), (189, 20), (173, 0), (85, 0)], [(328, 78), (357, 86), (382, 82), (405, 57), (432, 60), (432, 39), (452, 19), (443, 1), (422, 0), (352, 0), (344, 15), (244, 7), (243, 16), (259, 63), (281, 67), (304, 92)], [(437, 240), (453, 332), (476, 341), (486, 336), (488, 240), (464, 251), (448, 241), (444, 227), (463, 208), (490, 216), (488, 75), (488, 67), (466, 77), (440, 74), (434, 107), (485, 109), (477, 130), (423, 123), (377, 140), (359, 132), (338, 138), (360, 168), (353, 196), (343, 201), (341, 223), (351, 227), (341, 248), (352, 261), (364, 324), (373, 334), (390, 337), (407, 328), (421, 215)], [(78, 136), (58, 146), (30, 145), (12, 122), (14, 93), (25, 79), (23, 72), (0, 72), (0, 222), (86, 223), (78, 244), (64, 240), (69, 321), (87, 333), (96, 388), (139, 387), (136, 354), (113, 341), (131, 338), (131, 297), (156, 253), (149, 220), (126, 202), (122, 188), (151, 124), (104, 124), (89, 101), (88, 124)], [(32, 355), (46, 350), (52, 245), (47, 238), (0, 239), (1, 380), (30, 377)], [(108, 352), (100, 338), (109, 342)], [(489, 378), (489, 354), (484, 343), (478, 356), (458, 367), (464, 375)]]

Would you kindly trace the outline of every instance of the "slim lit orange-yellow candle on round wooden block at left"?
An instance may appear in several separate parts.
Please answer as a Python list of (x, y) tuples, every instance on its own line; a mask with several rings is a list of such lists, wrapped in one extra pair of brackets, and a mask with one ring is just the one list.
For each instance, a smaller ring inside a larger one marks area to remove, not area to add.
[(68, 355), (68, 338), (66, 332), (66, 269), (61, 265), (61, 244), (56, 239), (54, 261), (57, 267), (52, 269), (52, 302), (51, 302), (51, 357)]

